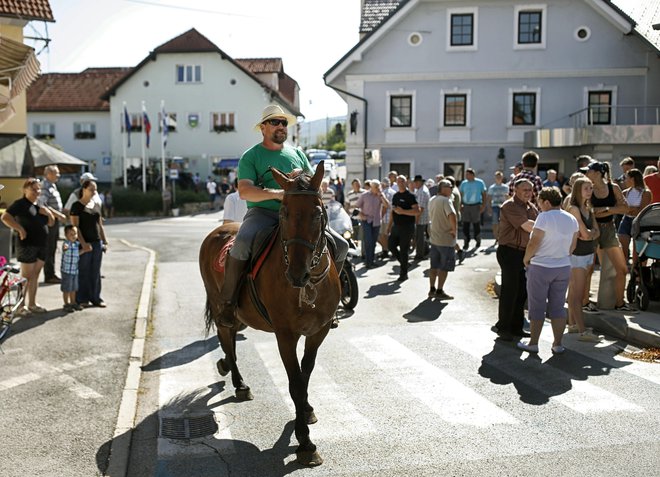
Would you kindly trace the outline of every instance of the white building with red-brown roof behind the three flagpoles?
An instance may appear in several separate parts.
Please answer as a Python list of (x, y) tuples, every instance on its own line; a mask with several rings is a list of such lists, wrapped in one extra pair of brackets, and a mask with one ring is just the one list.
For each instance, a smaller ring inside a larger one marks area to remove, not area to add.
[[(206, 178), (218, 164), (235, 166), (260, 140), (253, 126), (268, 104), (302, 116), (298, 93), (280, 58), (232, 59), (191, 29), (135, 67), (41, 76), (28, 91), (28, 134), (88, 161), (102, 182), (121, 182), (124, 150), (127, 164), (141, 168), (144, 104), (151, 126), (145, 156), (154, 177), (160, 177), (163, 104), (168, 164), (176, 159), (187, 172)], [(124, 105), (132, 124), (130, 147)], [(289, 137), (297, 143), (297, 127)]]

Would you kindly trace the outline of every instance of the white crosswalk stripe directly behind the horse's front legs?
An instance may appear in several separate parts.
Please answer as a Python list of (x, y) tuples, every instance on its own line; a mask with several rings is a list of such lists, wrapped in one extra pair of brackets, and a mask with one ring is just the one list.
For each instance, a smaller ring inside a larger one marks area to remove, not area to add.
[[(301, 340), (298, 347), (299, 357), (302, 357), (302, 343)], [(289, 379), (284, 364), (282, 364), (277, 344), (261, 342), (257, 343), (255, 347), (279, 394), (291, 413), (295, 414), (295, 406), (289, 394)], [(312, 407), (314, 407), (316, 417), (319, 419), (313, 428), (315, 439), (340, 439), (349, 435), (374, 432), (372, 423), (355, 409), (332, 376), (323, 369), (318, 361), (309, 384), (309, 400)], [(350, 422), (351, 425), (347, 426), (347, 422)]]

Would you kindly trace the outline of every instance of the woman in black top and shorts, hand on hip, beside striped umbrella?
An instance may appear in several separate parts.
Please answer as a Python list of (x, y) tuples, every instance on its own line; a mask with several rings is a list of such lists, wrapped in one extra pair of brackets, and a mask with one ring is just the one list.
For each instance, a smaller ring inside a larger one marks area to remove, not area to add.
[[(37, 205), (41, 193), (39, 179), (33, 177), (23, 183), (23, 197), (9, 206), (2, 214), (2, 222), (18, 233), (16, 259), (21, 263), (21, 275), (27, 280), (28, 310), (44, 313), (46, 309), (37, 304), (39, 273), (46, 260), (48, 227), (55, 217), (47, 207)], [(23, 309), (21, 312), (25, 312)]]

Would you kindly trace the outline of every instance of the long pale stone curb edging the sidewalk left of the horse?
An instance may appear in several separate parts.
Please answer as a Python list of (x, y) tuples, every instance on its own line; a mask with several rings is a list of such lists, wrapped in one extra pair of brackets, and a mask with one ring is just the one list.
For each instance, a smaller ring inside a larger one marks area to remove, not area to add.
[(110, 447), (108, 457), (108, 468), (104, 475), (111, 477), (126, 476), (128, 471), (128, 459), (130, 456), (133, 428), (135, 427), (135, 415), (137, 413), (138, 390), (140, 378), (142, 377), (142, 361), (144, 358), (144, 345), (147, 337), (147, 321), (151, 310), (151, 298), (153, 291), (154, 268), (156, 265), (156, 252), (146, 247), (132, 244), (126, 240), (120, 240), (124, 245), (144, 250), (149, 254), (149, 260), (144, 270), (142, 281), (142, 292), (138, 302), (135, 317), (135, 330), (133, 332), (133, 345), (128, 358), (128, 373), (126, 383), (122, 391), (119, 403), (117, 424)]

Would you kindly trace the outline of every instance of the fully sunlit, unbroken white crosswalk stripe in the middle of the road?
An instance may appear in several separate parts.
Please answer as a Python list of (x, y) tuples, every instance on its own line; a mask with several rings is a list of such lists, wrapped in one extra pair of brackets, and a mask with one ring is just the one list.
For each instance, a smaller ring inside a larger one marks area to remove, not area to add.
[(349, 341), (446, 422), (475, 427), (518, 424), (513, 416), (389, 336)]

